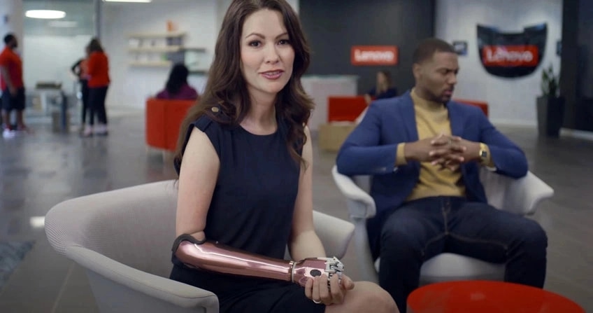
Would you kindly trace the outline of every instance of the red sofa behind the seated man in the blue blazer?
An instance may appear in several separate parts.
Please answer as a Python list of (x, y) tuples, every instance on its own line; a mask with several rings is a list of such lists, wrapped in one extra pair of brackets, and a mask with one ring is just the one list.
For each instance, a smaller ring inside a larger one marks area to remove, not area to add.
[[(476, 100), (454, 99), (455, 102), (478, 106), (488, 116), (488, 104)], [(363, 96), (332, 96), (327, 97), (327, 122), (341, 122), (356, 120), (366, 109)]]

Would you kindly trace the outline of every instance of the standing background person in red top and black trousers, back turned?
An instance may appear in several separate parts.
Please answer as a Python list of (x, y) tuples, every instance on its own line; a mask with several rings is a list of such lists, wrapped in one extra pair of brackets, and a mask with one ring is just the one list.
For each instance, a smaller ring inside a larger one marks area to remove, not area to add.
[[(103, 52), (99, 39), (92, 39), (89, 43), (89, 61), (87, 63), (88, 86), (89, 86), (89, 125), (85, 127), (83, 136), (89, 137), (92, 134), (107, 134), (107, 112), (105, 109), (105, 97), (109, 88), (109, 61)], [(97, 125), (94, 125), (94, 116), (97, 116)]]

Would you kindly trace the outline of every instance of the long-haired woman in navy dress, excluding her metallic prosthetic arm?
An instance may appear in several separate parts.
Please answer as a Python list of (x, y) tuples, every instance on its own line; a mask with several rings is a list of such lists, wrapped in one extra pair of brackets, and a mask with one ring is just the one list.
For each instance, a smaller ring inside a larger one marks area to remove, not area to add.
[[(300, 22), (285, 0), (231, 3), (206, 90), (181, 127), (176, 245), (188, 234), (192, 242), (266, 258), (282, 259), (286, 246), (294, 260), (325, 256), (313, 228), (313, 153), (305, 127), (313, 103), (300, 81), (308, 64)], [(212, 291), (223, 313), (398, 312), (376, 284), (345, 275), (328, 282), (323, 274), (303, 289), (199, 270), (178, 258), (176, 245), (171, 279)]]

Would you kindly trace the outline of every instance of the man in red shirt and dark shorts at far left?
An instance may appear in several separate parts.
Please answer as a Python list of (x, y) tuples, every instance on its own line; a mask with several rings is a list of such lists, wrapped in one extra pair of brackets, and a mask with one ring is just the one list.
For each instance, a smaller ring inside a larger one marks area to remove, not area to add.
[(3, 134), (6, 136), (13, 132), (10, 124), (10, 112), (17, 111), (16, 130), (27, 130), (24, 125), (24, 83), (22, 81), (22, 61), (15, 53), (18, 46), (13, 34), (4, 36), (4, 50), (0, 53), (0, 87), (2, 88), (2, 120)]

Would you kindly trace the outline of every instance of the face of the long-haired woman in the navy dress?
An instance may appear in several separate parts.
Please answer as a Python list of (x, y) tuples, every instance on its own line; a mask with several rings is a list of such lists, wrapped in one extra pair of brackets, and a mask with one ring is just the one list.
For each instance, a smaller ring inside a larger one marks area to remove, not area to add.
[(276, 97), (290, 80), (293, 63), (282, 15), (268, 9), (249, 15), (241, 34), (241, 73), (251, 97)]

